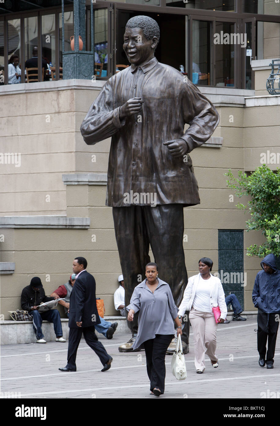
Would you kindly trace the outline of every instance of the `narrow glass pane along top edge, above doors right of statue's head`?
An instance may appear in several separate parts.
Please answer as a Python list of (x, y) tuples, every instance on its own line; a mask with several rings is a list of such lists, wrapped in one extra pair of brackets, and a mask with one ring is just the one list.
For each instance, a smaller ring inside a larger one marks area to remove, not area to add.
[(235, 0), (166, 0), (166, 6), (235, 12)]

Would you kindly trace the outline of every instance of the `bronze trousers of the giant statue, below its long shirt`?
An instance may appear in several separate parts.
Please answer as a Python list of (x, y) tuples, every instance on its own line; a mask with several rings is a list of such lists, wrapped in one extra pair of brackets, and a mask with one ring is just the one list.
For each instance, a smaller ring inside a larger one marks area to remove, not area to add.
[[(183, 249), (183, 205), (113, 207), (113, 219), (124, 276), (125, 306), (130, 304), (136, 285), (146, 278), (150, 246), (158, 264), (158, 277), (170, 285), (175, 305), (179, 306), (188, 281)], [(182, 340), (188, 344), (189, 320), (185, 318)], [(132, 322), (127, 321), (127, 325), (136, 334), (138, 314)]]

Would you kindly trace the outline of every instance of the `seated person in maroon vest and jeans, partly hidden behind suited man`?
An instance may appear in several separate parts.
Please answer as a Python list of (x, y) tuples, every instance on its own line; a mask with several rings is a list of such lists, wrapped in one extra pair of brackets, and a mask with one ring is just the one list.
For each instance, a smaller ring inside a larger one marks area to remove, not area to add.
[[(65, 300), (59, 300), (59, 304), (64, 306), (65, 314), (69, 317), (69, 302), (70, 302), (70, 294), (72, 292), (73, 286), (75, 284), (76, 280), (76, 274), (72, 273), (70, 275), (70, 279), (68, 282), (66, 282), (63, 285), (59, 285), (59, 287), (51, 294), (51, 296), (54, 297), (54, 299), (58, 299), (59, 297), (63, 297)], [(104, 337), (107, 339), (112, 339), (113, 334), (116, 331), (116, 328), (118, 326), (117, 322), (110, 322), (105, 321), (104, 318), (100, 317), (100, 324), (95, 325), (96, 331), (98, 333), (102, 333)]]

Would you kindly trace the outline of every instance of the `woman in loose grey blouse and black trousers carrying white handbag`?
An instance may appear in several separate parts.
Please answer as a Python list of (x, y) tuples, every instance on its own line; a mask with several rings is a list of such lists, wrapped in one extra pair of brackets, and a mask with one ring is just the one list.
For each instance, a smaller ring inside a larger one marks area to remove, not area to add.
[(127, 320), (132, 321), (139, 311), (138, 333), (133, 348), (143, 348), (146, 353), (147, 373), (151, 394), (164, 393), (165, 354), (174, 337), (175, 320), (178, 334), (182, 334), (178, 308), (167, 282), (158, 278), (158, 265), (146, 265), (146, 279), (137, 285), (128, 305)]

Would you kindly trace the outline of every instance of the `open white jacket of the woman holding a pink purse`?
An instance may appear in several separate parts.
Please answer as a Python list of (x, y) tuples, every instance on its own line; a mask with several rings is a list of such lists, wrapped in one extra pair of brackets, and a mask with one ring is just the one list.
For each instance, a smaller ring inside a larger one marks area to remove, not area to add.
[[(195, 292), (198, 286), (200, 275), (201, 274), (198, 273), (197, 275), (191, 276), (189, 278), (187, 287), (184, 291), (183, 300), (181, 302), (181, 305), (179, 306), (178, 315), (183, 316), (185, 311), (190, 311), (193, 299), (195, 298)], [(225, 320), (227, 315), (227, 307), (225, 302), (225, 294), (223, 292), (223, 286), (221, 280), (218, 277), (213, 276), (212, 274), (210, 275), (212, 276), (212, 278), (214, 278), (214, 282), (211, 280), (209, 307), (213, 314), (213, 306), (219, 306), (221, 311), (221, 318)]]

